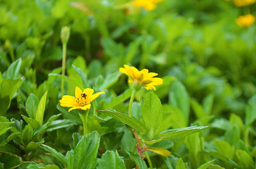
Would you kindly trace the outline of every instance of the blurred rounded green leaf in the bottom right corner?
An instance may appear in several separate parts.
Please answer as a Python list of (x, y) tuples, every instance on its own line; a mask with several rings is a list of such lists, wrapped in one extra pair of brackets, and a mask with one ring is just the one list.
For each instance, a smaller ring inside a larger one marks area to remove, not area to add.
[(250, 156), (250, 154), (248, 154), (246, 151), (237, 149), (236, 156), (239, 160), (239, 165), (241, 165), (241, 168), (244, 168), (244, 169), (254, 168), (255, 164), (253, 162), (253, 159)]

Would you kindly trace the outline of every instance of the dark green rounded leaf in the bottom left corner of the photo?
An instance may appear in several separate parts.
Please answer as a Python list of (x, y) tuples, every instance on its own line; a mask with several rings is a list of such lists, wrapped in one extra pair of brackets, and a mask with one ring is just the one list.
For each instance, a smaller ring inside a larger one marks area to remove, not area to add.
[(20, 166), (21, 158), (12, 153), (1, 152), (0, 163), (3, 163), (4, 169), (12, 169)]

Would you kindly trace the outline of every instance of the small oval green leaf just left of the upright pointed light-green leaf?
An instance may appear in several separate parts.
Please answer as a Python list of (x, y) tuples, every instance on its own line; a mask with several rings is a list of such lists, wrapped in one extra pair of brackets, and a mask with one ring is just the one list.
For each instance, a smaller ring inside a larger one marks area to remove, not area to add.
[(35, 96), (35, 94), (31, 93), (26, 101), (26, 112), (29, 117), (35, 119), (36, 117), (36, 110), (38, 107), (39, 100)]

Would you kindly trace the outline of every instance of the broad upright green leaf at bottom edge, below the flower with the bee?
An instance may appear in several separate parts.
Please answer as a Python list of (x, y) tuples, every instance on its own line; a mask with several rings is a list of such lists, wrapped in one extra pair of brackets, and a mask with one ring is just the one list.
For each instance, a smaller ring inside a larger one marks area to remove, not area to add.
[[(68, 163), (68, 169), (93, 168), (97, 164), (96, 158), (99, 149), (100, 136), (96, 131), (83, 136), (74, 149), (72, 163)], [(69, 158), (70, 156), (68, 156)], [(68, 159), (69, 161), (69, 159)]]

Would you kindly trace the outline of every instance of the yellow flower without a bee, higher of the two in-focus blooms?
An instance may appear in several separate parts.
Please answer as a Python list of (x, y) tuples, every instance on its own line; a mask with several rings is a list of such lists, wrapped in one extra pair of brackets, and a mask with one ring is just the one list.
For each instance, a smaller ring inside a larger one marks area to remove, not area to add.
[(119, 68), (119, 71), (127, 75), (129, 83), (134, 83), (135, 86), (141, 87), (142, 85), (147, 89), (154, 89), (156, 91), (155, 85), (163, 84), (162, 78), (157, 78), (157, 73), (150, 72), (148, 73), (147, 69), (138, 71), (133, 66), (124, 65), (124, 68)]

